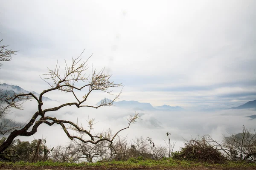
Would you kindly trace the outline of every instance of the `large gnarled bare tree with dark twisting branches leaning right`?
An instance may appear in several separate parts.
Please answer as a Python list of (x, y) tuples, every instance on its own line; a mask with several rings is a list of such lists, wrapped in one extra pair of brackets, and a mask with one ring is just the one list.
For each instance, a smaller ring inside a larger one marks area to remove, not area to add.
[[(90, 59), (90, 57), (86, 61), (81, 60), (81, 55), (75, 59), (72, 58), (71, 65), (68, 65), (65, 60), (65, 71), (64, 74), (60, 71), (60, 66), (57, 65), (54, 69), (49, 69), (48, 74), (45, 74), (46, 78), (43, 79), (47, 84), (49, 85), (49, 88), (42, 91), (40, 96), (37, 97), (32, 93), (28, 94), (14, 94), (12, 96), (6, 95), (6, 103), (7, 105), (11, 106), (12, 108), (17, 109), (23, 109), (20, 105), (20, 102), (28, 99), (34, 99), (38, 102), (38, 111), (34, 113), (32, 118), (24, 125), (23, 128), (20, 128), (19, 130), (15, 129), (13, 130), (5, 142), (3, 142), (2, 145), (0, 145), (0, 158), (9, 160), (6, 155), (3, 155), (3, 151), (6, 150), (6, 148), (9, 147), (9, 145), (12, 143), (13, 139), (15, 139), (17, 136), (32, 136), (36, 133), (37, 128), (41, 124), (47, 124), (49, 126), (52, 125), (60, 125), (62, 129), (64, 130), (64, 133), (71, 139), (78, 139), (83, 143), (91, 143), (91, 144), (97, 144), (102, 141), (107, 142), (113, 142), (114, 138), (117, 136), (117, 134), (130, 127), (131, 123), (136, 122), (136, 120), (139, 118), (138, 113), (135, 113), (134, 116), (130, 116), (128, 118), (128, 126), (119, 130), (116, 132), (111, 138), (105, 138), (101, 135), (94, 135), (90, 133), (90, 129), (87, 130), (87, 128), (82, 127), (81, 125), (78, 125), (74, 122), (71, 122), (69, 120), (61, 120), (56, 117), (47, 116), (46, 114), (48, 112), (56, 112), (61, 108), (67, 107), (67, 106), (76, 106), (77, 108), (81, 107), (90, 107), (90, 108), (99, 108), (102, 106), (110, 106), (113, 105), (113, 102), (119, 97), (121, 92), (114, 97), (113, 100), (103, 99), (98, 105), (86, 105), (85, 102), (88, 99), (88, 96), (93, 93), (93, 91), (102, 91), (107, 94), (111, 94), (111, 88), (116, 88), (121, 86), (122, 84), (115, 84), (110, 80), (111, 75), (105, 73), (105, 68), (103, 68), (101, 71), (97, 72), (96, 70), (92, 71), (91, 75), (85, 74), (85, 71), (87, 71), (87, 61)], [(81, 85), (82, 84), (82, 85)], [(80, 85), (80, 86), (79, 86)], [(78, 96), (76, 94), (76, 91), (82, 91), (86, 90), (87, 92), (84, 94), (84, 96)], [(42, 106), (44, 102), (42, 101), (42, 97), (45, 94), (48, 94), (52, 91), (63, 91), (66, 93), (70, 93), (73, 95), (73, 99), (75, 101), (70, 101), (67, 103), (64, 103), (62, 105), (58, 105), (53, 108), (46, 108), (43, 109)], [(36, 121), (37, 120), (37, 121)], [(78, 135), (72, 135), (70, 133), (70, 130), (76, 132)], [(82, 137), (81, 137), (82, 136)]]

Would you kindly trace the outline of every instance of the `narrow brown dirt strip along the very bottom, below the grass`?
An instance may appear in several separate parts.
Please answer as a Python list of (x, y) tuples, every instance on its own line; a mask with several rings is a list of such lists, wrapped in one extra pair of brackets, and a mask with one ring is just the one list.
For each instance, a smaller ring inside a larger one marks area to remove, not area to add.
[(95, 167), (52, 167), (52, 166), (43, 166), (43, 167), (34, 167), (34, 166), (6, 166), (3, 165), (0, 167), (0, 170), (256, 170), (256, 167), (239, 167), (239, 168), (216, 168), (216, 167), (104, 167), (104, 166), (95, 166)]

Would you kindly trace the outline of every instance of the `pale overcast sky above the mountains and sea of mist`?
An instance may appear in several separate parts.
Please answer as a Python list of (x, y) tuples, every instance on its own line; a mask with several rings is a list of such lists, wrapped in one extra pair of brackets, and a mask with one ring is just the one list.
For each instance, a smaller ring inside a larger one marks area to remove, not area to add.
[(255, 30), (255, 0), (2, 1), (0, 38), (18, 52), (0, 83), (40, 93), (39, 75), (85, 48), (120, 100), (238, 106), (256, 99)]

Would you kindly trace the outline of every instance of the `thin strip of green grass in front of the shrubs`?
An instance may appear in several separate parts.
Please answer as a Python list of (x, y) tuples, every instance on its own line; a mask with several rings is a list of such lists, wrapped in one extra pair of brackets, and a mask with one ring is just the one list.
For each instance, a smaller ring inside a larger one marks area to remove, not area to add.
[(136, 159), (131, 158), (128, 161), (109, 161), (109, 162), (96, 162), (96, 163), (68, 163), (68, 162), (36, 162), (29, 163), (25, 161), (19, 162), (0, 162), (0, 165), (7, 166), (61, 166), (61, 167), (81, 167), (81, 166), (104, 166), (104, 167), (226, 167), (226, 168), (239, 168), (239, 167), (256, 167), (256, 163), (248, 163), (241, 161), (227, 161), (224, 164), (209, 164), (207, 162), (196, 162), (196, 161), (179, 161), (173, 159)]

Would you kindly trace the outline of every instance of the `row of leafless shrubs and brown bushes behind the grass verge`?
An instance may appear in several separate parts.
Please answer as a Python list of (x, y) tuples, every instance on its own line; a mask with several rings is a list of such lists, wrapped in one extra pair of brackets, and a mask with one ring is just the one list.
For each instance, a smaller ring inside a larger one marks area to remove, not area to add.
[[(224, 137), (217, 142), (211, 136), (198, 136), (184, 143), (180, 151), (173, 152), (175, 143), (171, 143), (170, 133), (166, 133), (166, 146), (158, 145), (151, 138), (135, 138), (130, 142), (126, 138), (117, 139), (108, 144), (106, 141), (97, 144), (84, 144), (79, 140), (71, 141), (67, 146), (49, 148), (45, 139), (22, 142), (16, 139), (5, 154), (12, 162), (59, 162), (63, 164), (87, 162), (126, 161), (143, 164), (162, 161), (205, 162), (224, 164), (229, 161), (256, 163), (256, 135), (243, 127), (243, 133)], [(0, 139), (0, 144), (6, 138)], [(1, 159), (0, 159), (1, 161)], [(3, 160), (2, 160), (3, 161)], [(41, 163), (44, 164), (44, 163)], [(166, 163), (164, 163), (166, 164)]]

